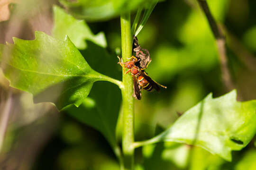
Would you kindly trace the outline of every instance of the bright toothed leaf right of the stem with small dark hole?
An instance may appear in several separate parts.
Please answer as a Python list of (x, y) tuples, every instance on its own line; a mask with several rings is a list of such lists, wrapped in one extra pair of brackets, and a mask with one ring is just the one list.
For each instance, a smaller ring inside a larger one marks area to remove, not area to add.
[(165, 132), (135, 146), (163, 141), (192, 144), (231, 161), (231, 151), (241, 150), (256, 133), (256, 100), (237, 102), (236, 96), (235, 90), (215, 99), (209, 94)]

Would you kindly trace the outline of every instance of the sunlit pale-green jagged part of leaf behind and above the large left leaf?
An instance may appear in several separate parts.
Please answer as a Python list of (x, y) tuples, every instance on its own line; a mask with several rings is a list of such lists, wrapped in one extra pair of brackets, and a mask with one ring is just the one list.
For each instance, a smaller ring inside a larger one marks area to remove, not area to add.
[(107, 46), (103, 32), (94, 35), (84, 20), (75, 19), (58, 6), (54, 6), (54, 23), (53, 36), (64, 39), (65, 35), (68, 35), (70, 40), (79, 49), (86, 48), (85, 40), (90, 40), (102, 47)]

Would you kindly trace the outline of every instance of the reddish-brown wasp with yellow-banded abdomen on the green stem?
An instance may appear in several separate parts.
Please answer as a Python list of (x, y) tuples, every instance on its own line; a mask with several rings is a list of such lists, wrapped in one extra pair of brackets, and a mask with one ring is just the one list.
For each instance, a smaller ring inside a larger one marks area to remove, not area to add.
[[(119, 58), (119, 56), (118, 56)], [(146, 91), (152, 92), (154, 89), (158, 92), (160, 90), (159, 83), (152, 80), (144, 70), (140, 69), (138, 66), (136, 66), (136, 63), (138, 62), (138, 59), (134, 56), (132, 56), (130, 61), (122, 62), (119, 58), (118, 64), (122, 66), (122, 68), (128, 68), (128, 71), (125, 72), (127, 74), (128, 72), (131, 73), (132, 79), (133, 79), (133, 85), (134, 85), (134, 93), (137, 98), (137, 100), (141, 99), (141, 87), (145, 89)], [(167, 88), (164, 85), (160, 85), (163, 88)]]

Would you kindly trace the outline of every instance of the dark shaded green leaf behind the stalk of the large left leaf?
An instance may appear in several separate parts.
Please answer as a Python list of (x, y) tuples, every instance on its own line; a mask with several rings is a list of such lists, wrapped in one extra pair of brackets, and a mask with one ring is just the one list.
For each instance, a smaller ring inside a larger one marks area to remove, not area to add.
[[(120, 72), (114, 71), (115, 69), (118, 70), (119, 67), (116, 63), (115, 55), (108, 54), (104, 48), (95, 43), (87, 42), (87, 44), (88, 48), (81, 51), (81, 53), (83, 56), (88, 56), (86, 60), (90, 66), (108, 76), (120, 78)], [(101, 57), (95, 58), (91, 54)], [(121, 102), (119, 89), (117, 86), (107, 82), (96, 82), (91, 89), (89, 97), (78, 108), (70, 105), (64, 111), (99, 130), (109, 141), (114, 152), (117, 152), (115, 151), (117, 147), (115, 129)]]

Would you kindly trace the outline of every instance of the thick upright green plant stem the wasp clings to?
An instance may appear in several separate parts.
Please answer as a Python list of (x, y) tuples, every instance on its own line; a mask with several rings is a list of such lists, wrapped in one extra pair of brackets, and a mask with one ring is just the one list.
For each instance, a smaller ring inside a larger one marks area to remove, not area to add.
[[(130, 26), (130, 13), (121, 14), (121, 43), (122, 58), (124, 61), (132, 56), (132, 35)], [(133, 170), (134, 164), (134, 99), (132, 76), (125, 75), (123, 69), (122, 104), (123, 104), (123, 135), (122, 148), (125, 170)]]

